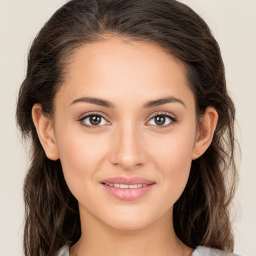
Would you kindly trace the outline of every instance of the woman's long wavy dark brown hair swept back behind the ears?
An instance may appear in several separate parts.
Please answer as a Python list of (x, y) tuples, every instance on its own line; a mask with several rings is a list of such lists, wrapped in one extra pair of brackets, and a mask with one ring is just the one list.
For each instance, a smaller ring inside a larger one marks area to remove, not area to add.
[(106, 36), (160, 46), (180, 59), (196, 99), (197, 116), (213, 106), (218, 123), (213, 140), (191, 164), (187, 185), (173, 207), (178, 238), (190, 247), (232, 251), (228, 205), (234, 193), (234, 105), (227, 93), (219, 46), (207, 24), (176, 0), (70, 0), (35, 37), (17, 102), (17, 124), (31, 138), (31, 163), (24, 181), (24, 254), (54, 255), (80, 236), (78, 203), (59, 160), (48, 159), (31, 118), (34, 103), (54, 114), (54, 97), (74, 50)]

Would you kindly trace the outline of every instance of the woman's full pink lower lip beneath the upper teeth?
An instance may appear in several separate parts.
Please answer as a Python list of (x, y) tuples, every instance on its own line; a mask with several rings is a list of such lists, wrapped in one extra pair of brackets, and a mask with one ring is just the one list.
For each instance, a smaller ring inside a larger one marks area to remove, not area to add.
[(119, 188), (115, 186), (108, 186), (104, 183), (101, 184), (109, 194), (121, 200), (136, 200), (147, 194), (155, 185), (155, 183), (152, 183), (138, 188)]

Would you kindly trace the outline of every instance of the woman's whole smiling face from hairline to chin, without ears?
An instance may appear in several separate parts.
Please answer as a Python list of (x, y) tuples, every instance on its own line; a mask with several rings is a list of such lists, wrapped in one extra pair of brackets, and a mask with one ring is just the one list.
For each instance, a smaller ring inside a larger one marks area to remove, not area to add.
[(68, 70), (54, 135), (80, 215), (118, 229), (171, 217), (196, 138), (182, 64), (152, 44), (112, 38), (77, 49)]

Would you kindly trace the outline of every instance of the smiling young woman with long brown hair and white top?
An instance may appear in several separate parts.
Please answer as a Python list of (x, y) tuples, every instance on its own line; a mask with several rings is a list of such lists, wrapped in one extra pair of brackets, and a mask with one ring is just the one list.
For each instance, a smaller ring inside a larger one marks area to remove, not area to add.
[(189, 7), (68, 1), (19, 91), (25, 255), (231, 252), (233, 121), (218, 44)]

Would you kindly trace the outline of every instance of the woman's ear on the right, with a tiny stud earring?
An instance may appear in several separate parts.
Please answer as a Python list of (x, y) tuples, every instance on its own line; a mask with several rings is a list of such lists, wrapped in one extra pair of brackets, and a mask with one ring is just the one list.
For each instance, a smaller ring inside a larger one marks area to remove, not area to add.
[(218, 113), (213, 107), (207, 107), (203, 116), (200, 117), (200, 127), (197, 131), (192, 160), (202, 155), (209, 147), (217, 125)]

